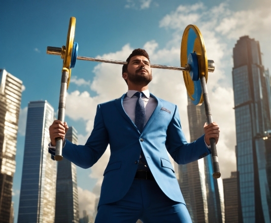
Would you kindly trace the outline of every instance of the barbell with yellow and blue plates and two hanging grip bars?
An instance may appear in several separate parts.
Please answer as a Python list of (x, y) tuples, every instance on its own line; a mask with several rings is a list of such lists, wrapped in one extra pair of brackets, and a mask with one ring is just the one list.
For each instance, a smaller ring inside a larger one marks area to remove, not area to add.
[[(71, 76), (71, 69), (74, 68), (76, 60), (86, 60), (95, 62), (104, 62), (111, 64), (125, 65), (127, 62), (118, 60), (109, 60), (102, 58), (78, 56), (78, 43), (74, 42), (76, 19), (71, 17), (68, 26), (68, 35), (66, 46), (62, 47), (47, 47), (47, 54), (60, 55), (63, 59), (63, 69), (61, 78), (60, 98), (58, 120), (64, 122), (65, 105), (67, 89)], [(207, 60), (206, 49), (203, 36), (199, 28), (195, 25), (188, 25), (183, 33), (181, 41), (181, 67), (150, 64), (151, 68), (177, 70), (183, 72), (184, 83), (187, 93), (194, 105), (201, 105), (204, 102), (207, 124), (212, 122), (211, 109), (209, 104), (206, 82), (208, 72), (214, 72), (214, 61)], [(56, 139), (56, 154), (55, 160), (60, 161), (62, 156), (62, 140)], [(213, 178), (220, 178), (218, 156), (216, 151), (215, 139), (210, 139), (210, 149), (212, 154)]]

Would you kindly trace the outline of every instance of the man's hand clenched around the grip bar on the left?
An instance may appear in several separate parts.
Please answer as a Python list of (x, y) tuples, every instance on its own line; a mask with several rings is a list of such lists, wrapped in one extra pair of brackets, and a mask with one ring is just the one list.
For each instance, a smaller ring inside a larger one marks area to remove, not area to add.
[(62, 140), (64, 140), (67, 132), (67, 122), (63, 123), (60, 120), (54, 120), (53, 124), (49, 127), (51, 146), (55, 147), (57, 145), (56, 138), (61, 138)]

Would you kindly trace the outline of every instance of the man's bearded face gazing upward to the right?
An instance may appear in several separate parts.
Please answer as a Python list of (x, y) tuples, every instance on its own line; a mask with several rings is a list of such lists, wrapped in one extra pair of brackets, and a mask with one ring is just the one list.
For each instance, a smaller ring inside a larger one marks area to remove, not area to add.
[(123, 74), (123, 78), (134, 84), (148, 85), (152, 80), (149, 60), (144, 56), (132, 57), (128, 64), (127, 73)]

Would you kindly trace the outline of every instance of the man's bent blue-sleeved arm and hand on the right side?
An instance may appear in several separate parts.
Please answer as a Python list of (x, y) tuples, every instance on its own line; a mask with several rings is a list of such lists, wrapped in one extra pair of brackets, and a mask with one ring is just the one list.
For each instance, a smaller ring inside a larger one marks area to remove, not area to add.
[[(219, 127), (216, 123), (212, 123), (204, 128), (204, 132), (206, 134), (205, 142), (207, 145), (210, 145), (209, 138), (217, 134), (219, 135)], [(218, 137), (216, 139), (218, 140)], [(206, 147), (205, 142), (203, 135), (198, 140), (187, 143), (181, 128), (178, 107), (176, 106), (168, 126), (166, 140), (166, 148), (175, 162), (187, 164), (210, 154), (210, 150)]]

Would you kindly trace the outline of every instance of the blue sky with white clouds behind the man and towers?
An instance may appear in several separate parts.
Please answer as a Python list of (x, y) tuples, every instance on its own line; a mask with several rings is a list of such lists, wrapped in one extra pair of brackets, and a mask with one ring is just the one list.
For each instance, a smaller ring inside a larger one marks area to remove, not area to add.
[[(233, 47), (241, 36), (260, 42), (263, 65), (271, 69), (270, 0), (0, 0), (0, 69), (23, 81), (16, 172), (13, 182), (15, 223), (24, 154), (27, 107), (47, 100), (57, 116), (62, 60), (47, 55), (47, 46), (66, 44), (69, 18), (76, 17), (75, 42), (79, 56), (126, 60), (144, 48), (152, 64), (180, 66), (180, 43), (189, 24), (199, 27), (207, 58), (215, 72), (207, 88), (213, 120), (220, 126), (217, 144), (223, 178), (236, 170), (236, 133), (232, 86)], [(97, 104), (127, 92), (120, 65), (77, 60), (67, 94), (66, 121), (84, 144), (93, 128)], [(190, 140), (187, 95), (178, 71), (153, 69), (150, 92), (179, 107), (181, 124)], [(92, 214), (99, 196), (109, 148), (90, 169), (77, 168), (80, 215)]]

